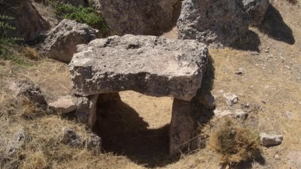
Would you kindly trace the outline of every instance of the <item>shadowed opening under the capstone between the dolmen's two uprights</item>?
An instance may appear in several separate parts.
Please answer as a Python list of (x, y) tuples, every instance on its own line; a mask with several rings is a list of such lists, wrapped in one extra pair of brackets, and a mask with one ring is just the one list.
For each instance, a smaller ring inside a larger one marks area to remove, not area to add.
[(165, 166), (169, 158), (172, 98), (120, 92), (121, 101), (98, 109), (94, 131), (104, 153), (126, 156), (148, 168)]

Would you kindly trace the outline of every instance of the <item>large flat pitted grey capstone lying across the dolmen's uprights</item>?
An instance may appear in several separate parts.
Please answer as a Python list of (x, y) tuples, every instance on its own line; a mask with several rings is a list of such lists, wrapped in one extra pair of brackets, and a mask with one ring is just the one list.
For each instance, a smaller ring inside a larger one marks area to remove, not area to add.
[(78, 45), (69, 64), (75, 94), (134, 90), (191, 100), (201, 87), (208, 50), (195, 40), (125, 35)]

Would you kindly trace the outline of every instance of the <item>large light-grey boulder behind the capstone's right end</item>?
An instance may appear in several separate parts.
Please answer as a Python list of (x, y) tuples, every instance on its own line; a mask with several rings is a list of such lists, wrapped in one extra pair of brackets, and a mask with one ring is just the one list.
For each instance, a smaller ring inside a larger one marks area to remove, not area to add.
[(185, 0), (177, 22), (178, 38), (223, 47), (245, 37), (248, 24), (242, 0)]

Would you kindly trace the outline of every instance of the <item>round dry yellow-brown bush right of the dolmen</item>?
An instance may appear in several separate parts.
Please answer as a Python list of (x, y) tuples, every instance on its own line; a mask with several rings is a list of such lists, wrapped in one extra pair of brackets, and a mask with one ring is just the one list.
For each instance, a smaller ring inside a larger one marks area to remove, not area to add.
[(226, 118), (209, 136), (208, 146), (223, 166), (231, 166), (251, 158), (258, 152), (259, 137), (251, 129), (235, 125)]

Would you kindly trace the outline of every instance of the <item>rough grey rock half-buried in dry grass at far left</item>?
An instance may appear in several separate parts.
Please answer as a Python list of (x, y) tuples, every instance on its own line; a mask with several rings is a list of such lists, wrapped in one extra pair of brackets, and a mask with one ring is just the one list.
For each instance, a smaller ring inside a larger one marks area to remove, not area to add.
[(23, 95), (33, 101), (46, 103), (40, 87), (27, 79), (11, 82), (9, 87), (16, 95)]

